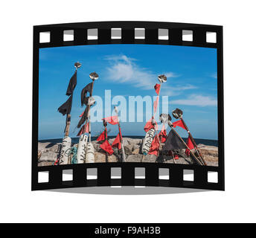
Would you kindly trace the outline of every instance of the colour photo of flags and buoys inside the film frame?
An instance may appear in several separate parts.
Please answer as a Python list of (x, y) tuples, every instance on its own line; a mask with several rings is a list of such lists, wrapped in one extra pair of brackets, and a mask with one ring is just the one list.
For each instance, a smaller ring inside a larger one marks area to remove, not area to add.
[(39, 50), (38, 166), (218, 166), (214, 48)]

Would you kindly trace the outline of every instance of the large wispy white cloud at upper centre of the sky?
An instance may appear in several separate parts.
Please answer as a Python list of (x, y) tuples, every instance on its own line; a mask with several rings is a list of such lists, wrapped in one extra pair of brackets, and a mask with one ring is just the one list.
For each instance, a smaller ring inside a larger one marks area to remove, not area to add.
[[(147, 68), (141, 68), (135, 63), (135, 59), (125, 55), (108, 56), (105, 60), (111, 62), (111, 66), (107, 68), (109, 80), (118, 83), (129, 83), (132, 86), (152, 89), (158, 82), (157, 76), (160, 74), (153, 73)], [(173, 72), (166, 72), (167, 78), (176, 77)]]

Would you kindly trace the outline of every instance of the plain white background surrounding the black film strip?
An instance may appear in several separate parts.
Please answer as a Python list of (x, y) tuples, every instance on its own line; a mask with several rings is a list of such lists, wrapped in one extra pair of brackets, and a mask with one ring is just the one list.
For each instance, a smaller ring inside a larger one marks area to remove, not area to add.
[[(0, 5), (0, 222), (256, 222), (255, 1), (24, 0)], [(33, 25), (118, 20), (224, 26), (225, 192), (31, 192)]]

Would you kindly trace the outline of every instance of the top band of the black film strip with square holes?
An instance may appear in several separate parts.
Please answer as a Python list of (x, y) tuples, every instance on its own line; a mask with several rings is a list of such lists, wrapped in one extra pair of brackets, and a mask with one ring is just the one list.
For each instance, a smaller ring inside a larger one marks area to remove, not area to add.
[[(34, 27), (39, 48), (68, 45), (159, 44), (217, 48), (222, 27), (168, 22), (85, 22)], [(212, 36), (212, 37), (211, 37)]]

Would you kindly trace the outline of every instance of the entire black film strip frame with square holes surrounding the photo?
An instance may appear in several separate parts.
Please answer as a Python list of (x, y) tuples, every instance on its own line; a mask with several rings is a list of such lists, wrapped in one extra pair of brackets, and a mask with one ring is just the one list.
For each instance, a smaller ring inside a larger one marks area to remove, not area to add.
[[(214, 40), (208, 41), (208, 33), (214, 34)], [(42, 37), (43, 34), (45, 38)], [(184, 45), (217, 48), (219, 167), (156, 163), (37, 166), (39, 48), (100, 44)], [(32, 190), (95, 186), (160, 186), (224, 190), (223, 122), (222, 26), (170, 22), (84, 22), (41, 25), (33, 28)], [(97, 170), (95, 178), (89, 179), (87, 176), (90, 169)], [(114, 169), (121, 171), (119, 178), (112, 178)], [(144, 170), (144, 177), (136, 176), (138, 169)], [(71, 170), (72, 179), (69, 181), (63, 179), (66, 170)], [(165, 170), (167, 174), (164, 179), (161, 179), (162, 170)], [(192, 180), (185, 179), (185, 170), (190, 170), (193, 174)], [(211, 182), (208, 178), (209, 173), (215, 173), (217, 180)], [(40, 174), (45, 176), (45, 181), (39, 182)]]

